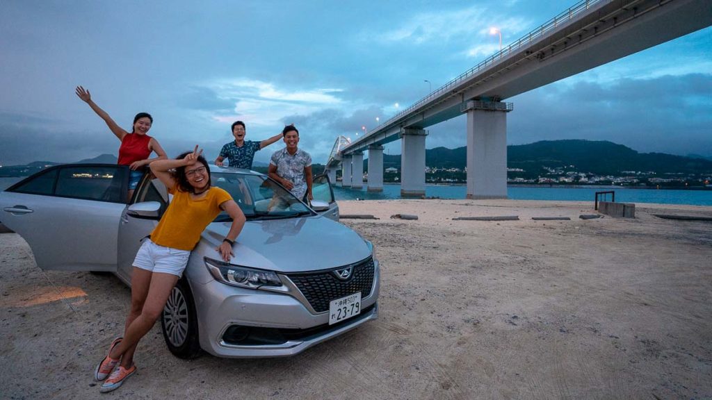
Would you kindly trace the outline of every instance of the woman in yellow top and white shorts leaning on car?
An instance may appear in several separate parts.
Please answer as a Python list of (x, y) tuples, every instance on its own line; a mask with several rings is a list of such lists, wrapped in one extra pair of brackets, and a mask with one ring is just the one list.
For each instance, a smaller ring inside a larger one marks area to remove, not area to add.
[[(220, 211), (232, 218), (232, 226), (216, 248), (229, 262), (232, 245), (242, 231), (245, 215), (230, 194), (210, 184), (210, 168), (198, 146), (177, 159), (159, 159), (150, 164), (151, 172), (173, 194), (173, 199), (133, 263), (131, 310), (126, 318), (124, 337), (117, 337), (109, 354), (95, 370), (98, 381), (106, 379), (100, 391), (117, 389), (136, 371), (133, 354), (139, 340), (158, 319), (174, 285), (185, 269), (190, 252)], [(171, 172), (174, 169), (175, 172)]]

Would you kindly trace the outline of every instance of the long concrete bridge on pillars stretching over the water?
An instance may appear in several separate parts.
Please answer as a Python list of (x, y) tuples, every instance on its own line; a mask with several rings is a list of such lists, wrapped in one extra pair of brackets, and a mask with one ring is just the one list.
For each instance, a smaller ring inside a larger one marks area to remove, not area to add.
[(426, 127), (467, 114), (467, 197), (507, 196), (507, 120), (514, 95), (712, 25), (711, 0), (581, 0), (499, 53), (434, 90), (354, 142), (337, 139), (327, 162), (335, 181), (383, 188), (383, 146), (401, 140), (401, 195), (425, 194)]

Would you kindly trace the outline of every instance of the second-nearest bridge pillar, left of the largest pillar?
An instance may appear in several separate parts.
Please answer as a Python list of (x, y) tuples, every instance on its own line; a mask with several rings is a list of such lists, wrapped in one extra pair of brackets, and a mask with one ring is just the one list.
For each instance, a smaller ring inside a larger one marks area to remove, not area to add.
[(401, 131), (401, 196), (425, 195), (425, 130)]

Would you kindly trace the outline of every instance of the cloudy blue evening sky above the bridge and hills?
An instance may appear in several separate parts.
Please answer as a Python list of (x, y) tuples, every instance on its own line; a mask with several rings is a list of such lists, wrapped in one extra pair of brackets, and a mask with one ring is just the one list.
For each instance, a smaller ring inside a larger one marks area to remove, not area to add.
[[(323, 163), (337, 135), (355, 138), (495, 53), (491, 26), (506, 46), (573, 4), (3, 0), (0, 164), (117, 153), (76, 85), (126, 130), (150, 112), (169, 156), (201, 144), (214, 159), (234, 120), (251, 140), (293, 122)], [(712, 156), (712, 28), (508, 101), (510, 144), (611, 140)], [(464, 116), (429, 132), (428, 148), (466, 144)]]

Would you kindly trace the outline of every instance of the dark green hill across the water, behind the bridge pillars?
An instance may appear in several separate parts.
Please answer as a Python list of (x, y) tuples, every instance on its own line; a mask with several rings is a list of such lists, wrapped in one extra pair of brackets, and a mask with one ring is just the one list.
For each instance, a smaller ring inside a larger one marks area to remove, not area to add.
[[(436, 147), (425, 151), (425, 164), (434, 168), (466, 167), (467, 148)], [(401, 156), (383, 155), (384, 168), (400, 169)], [(365, 168), (367, 162), (365, 162)], [(507, 147), (509, 168), (538, 174), (544, 167), (574, 166), (579, 172), (619, 174), (622, 171), (664, 173), (712, 173), (712, 160), (663, 153), (639, 153), (622, 144), (592, 140), (543, 140)]]

